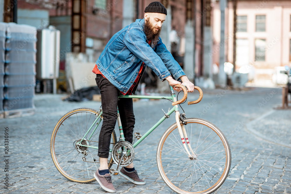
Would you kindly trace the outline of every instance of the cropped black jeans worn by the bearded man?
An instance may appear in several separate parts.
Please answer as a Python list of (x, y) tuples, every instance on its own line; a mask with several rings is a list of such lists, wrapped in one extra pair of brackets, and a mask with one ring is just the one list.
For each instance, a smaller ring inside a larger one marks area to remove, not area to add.
[(103, 111), (103, 123), (98, 143), (98, 156), (101, 158), (108, 158), (111, 134), (117, 120), (117, 107), (125, 140), (132, 143), (133, 128), (135, 124), (133, 103), (131, 98), (118, 99), (118, 95), (121, 94), (120, 91), (101, 74), (97, 74), (95, 80), (98, 88), (101, 90), (101, 104)]

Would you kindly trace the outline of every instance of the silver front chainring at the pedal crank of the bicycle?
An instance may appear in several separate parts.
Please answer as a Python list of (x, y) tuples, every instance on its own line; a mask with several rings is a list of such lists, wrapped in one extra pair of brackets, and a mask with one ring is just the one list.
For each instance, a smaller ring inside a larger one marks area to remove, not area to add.
[(112, 159), (118, 164), (121, 152), (126, 151), (127, 155), (121, 160), (120, 166), (127, 166), (134, 160), (135, 151), (134, 147), (128, 141), (118, 141), (112, 148)]

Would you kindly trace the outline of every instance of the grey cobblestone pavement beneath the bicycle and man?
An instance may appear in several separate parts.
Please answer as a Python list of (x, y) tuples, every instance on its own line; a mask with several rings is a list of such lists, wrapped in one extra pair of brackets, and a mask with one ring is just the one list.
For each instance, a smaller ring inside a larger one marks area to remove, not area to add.
[[(105, 193), (97, 184), (79, 184), (65, 179), (50, 156), (50, 137), (56, 122), (66, 112), (79, 107), (98, 109), (100, 102), (63, 102), (63, 95), (36, 95), (36, 114), (0, 120), (0, 193)], [(189, 94), (188, 100), (195, 100)], [(213, 101), (215, 100), (215, 101)], [(215, 102), (215, 103), (214, 103)], [(183, 108), (187, 117), (216, 124), (226, 135), (232, 152), (228, 178), (214, 193), (291, 193), (291, 109), (274, 109), (281, 104), (280, 88), (246, 88), (242, 91), (204, 90), (198, 104)], [(147, 106), (146, 106), (147, 105)], [(161, 118), (165, 100), (134, 102), (135, 132), (145, 131)], [(171, 116), (136, 147), (135, 168), (146, 185), (134, 185), (121, 176), (112, 176), (117, 193), (173, 193), (161, 179), (156, 149)], [(9, 128), (9, 154), (4, 154), (4, 127)], [(9, 172), (5, 159), (9, 157)], [(5, 189), (8, 173), (8, 189)]]

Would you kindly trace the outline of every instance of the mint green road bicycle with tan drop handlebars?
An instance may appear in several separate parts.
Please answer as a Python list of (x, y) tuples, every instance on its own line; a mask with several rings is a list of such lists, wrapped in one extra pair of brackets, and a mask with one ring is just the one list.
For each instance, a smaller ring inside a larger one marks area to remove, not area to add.
[[(185, 113), (180, 114), (178, 104), (186, 100), (187, 89), (181, 84), (174, 87), (184, 91), (181, 100), (177, 100), (172, 87), (171, 96), (119, 96), (167, 99), (172, 102), (173, 108), (169, 108), (167, 113), (164, 112), (164, 116), (143, 136), (135, 133), (132, 144), (125, 141), (118, 112), (120, 138), (117, 141), (113, 130), (108, 159), (109, 171), (117, 175), (119, 167), (132, 163), (134, 148), (175, 112), (176, 122), (164, 132), (157, 147), (159, 173), (166, 185), (176, 193), (213, 193), (223, 184), (230, 170), (231, 152), (228, 141), (222, 131), (211, 122), (200, 118), (186, 118)], [(199, 98), (188, 102), (188, 105), (200, 102), (203, 97), (202, 90), (197, 86), (195, 89), (199, 91)], [(95, 181), (93, 173), (99, 167), (96, 139), (98, 140), (102, 120), (101, 107), (99, 111), (77, 108), (66, 113), (57, 122), (50, 143), (52, 159), (58, 171), (70, 181)], [(113, 163), (117, 164), (116, 170), (111, 169)]]

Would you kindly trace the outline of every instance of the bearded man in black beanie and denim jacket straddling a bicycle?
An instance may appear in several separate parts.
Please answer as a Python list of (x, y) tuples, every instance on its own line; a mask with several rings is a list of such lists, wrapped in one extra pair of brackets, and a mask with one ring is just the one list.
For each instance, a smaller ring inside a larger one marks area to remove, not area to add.
[[(167, 10), (161, 3), (150, 3), (145, 8), (144, 19), (137, 19), (113, 35), (93, 69), (97, 74), (97, 86), (101, 90), (103, 110), (103, 124), (98, 145), (100, 168), (95, 172), (94, 177), (105, 191), (111, 193), (115, 193), (116, 190), (111, 182), (107, 160), (111, 133), (117, 119), (117, 107), (125, 140), (129, 143), (133, 140), (135, 124), (132, 99), (118, 100), (118, 95), (135, 93), (146, 66), (150, 67), (159, 79), (167, 80), (170, 86), (180, 84), (177, 80), (182, 80), (188, 92), (194, 91), (194, 84), (185, 76), (184, 71), (159, 37), (166, 15)], [(180, 88), (174, 89), (180, 91)], [(139, 178), (133, 163), (121, 168), (120, 175), (134, 184), (145, 184), (145, 181)]]

